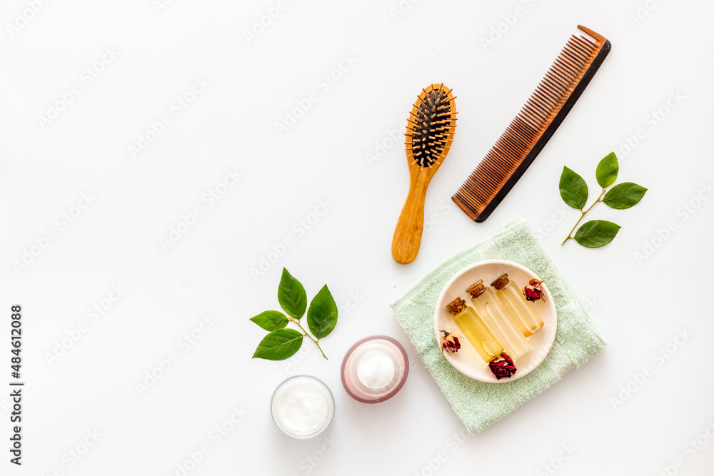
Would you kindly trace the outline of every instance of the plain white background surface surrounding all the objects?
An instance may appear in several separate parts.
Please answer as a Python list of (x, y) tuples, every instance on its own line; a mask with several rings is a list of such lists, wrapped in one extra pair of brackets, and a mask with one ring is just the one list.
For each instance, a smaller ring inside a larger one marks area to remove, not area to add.
[[(301, 0), (280, 4), (250, 41), (275, 1), (166, 3), (1, 7), (0, 382), (10, 380), (13, 303), (24, 307), (26, 381), (22, 467), (8, 462), (9, 390), (0, 393), (2, 474), (180, 475), (179, 465), (191, 475), (711, 474), (710, 2)], [(610, 39), (610, 56), (491, 218), (469, 221), (451, 195), (577, 24)], [(197, 78), (209, 85), (179, 114), (175, 101)], [(457, 96), (456, 140), (429, 189), (421, 252), (398, 265), (390, 246), (408, 171), (389, 131), (403, 133), (417, 93), (433, 82)], [(74, 85), (79, 95), (63, 105)], [(311, 91), (317, 100), (278, 134), (275, 124)], [(46, 123), (40, 116), (57, 103), (63, 110)], [(164, 115), (169, 126), (149, 133)], [(132, 154), (147, 133), (154, 140)], [(591, 203), (595, 166), (610, 151), (618, 182), (649, 191), (630, 210), (590, 212), (623, 227), (606, 248), (560, 248), (578, 218), (560, 200), (560, 171), (586, 178)], [(220, 200), (204, 200), (226, 171), (242, 177)], [(327, 211), (315, 223), (321, 201)], [(162, 246), (196, 207), (196, 223)], [(462, 443), (453, 435), (463, 425), (388, 303), (517, 216), (609, 345)], [(254, 278), (274, 249), (282, 255)], [(35, 256), (18, 265), (26, 251)], [(251, 360), (264, 331), (248, 318), (277, 307), (283, 266), (308, 298), (327, 283), (341, 307), (323, 341), (329, 360), (308, 343), (288, 363)], [(107, 300), (113, 285), (126, 289), (116, 302)], [(359, 303), (348, 308), (351, 295)], [(102, 303), (108, 310), (92, 320), (88, 310)], [(208, 314), (216, 322), (186, 348), (183, 335)], [(690, 335), (677, 344), (680, 331)], [(353, 342), (377, 333), (400, 340), (413, 365), (401, 393), (364, 405), (346, 395), (339, 368)], [(63, 340), (69, 349), (49, 358)], [(140, 395), (136, 384), (172, 352), (178, 361)], [(296, 373), (325, 380), (336, 397), (331, 426), (313, 440), (283, 435), (268, 412), (273, 389)], [(242, 420), (217, 442), (211, 431), (234, 408)], [(88, 432), (101, 436), (84, 452)], [(698, 437), (708, 445), (695, 450)], [(204, 444), (210, 452), (186, 465)]]

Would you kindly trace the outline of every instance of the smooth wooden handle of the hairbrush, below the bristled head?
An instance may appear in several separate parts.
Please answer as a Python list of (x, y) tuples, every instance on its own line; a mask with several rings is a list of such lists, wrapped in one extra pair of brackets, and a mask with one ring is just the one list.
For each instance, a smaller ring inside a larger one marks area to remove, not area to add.
[(397, 263), (411, 263), (419, 253), (424, 228), (424, 198), (432, 176), (433, 173), (426, 171), (411, 174), (409, 193), (399, 214), (392, 239), (392, 256)]

